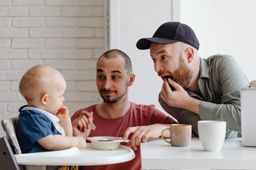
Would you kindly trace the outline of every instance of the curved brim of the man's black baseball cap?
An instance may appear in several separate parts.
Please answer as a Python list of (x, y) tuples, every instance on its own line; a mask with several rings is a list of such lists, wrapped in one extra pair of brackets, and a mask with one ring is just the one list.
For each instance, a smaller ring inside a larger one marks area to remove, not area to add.
[(141, 38), (137, 43), (136, 46), (139, 50), (147, 50), (150, 49), (151, 43), (157, 44), (170, 44), (174, 42), (178, 42), (173, 39), (166, 39), (166, 38), (159, 38), (159, 37), (152, 37), (152, 38)]

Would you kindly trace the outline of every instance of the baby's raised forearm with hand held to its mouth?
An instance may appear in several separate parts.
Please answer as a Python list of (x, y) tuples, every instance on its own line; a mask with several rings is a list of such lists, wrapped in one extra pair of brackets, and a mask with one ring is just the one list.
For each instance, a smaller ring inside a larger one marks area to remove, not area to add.
[(73, 136), (71, 118), (69, 116), (69, 109), (66, 106), (61, 106), (57, 113), (57, 117), (59, 118), (59, 123), (65, 130), (65, 135)]

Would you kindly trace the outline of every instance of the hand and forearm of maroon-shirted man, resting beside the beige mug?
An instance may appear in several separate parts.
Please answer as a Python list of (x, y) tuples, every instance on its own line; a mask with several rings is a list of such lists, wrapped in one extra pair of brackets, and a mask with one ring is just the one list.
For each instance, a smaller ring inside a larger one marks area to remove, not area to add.
[(124, 132), (123, 138), (127, 139), (131, 133), (134, 133), (131, 141), (127, 143), (127, 147), (132, 147), (135, 151), (140, 145), (140, 142), (146, 142), (148, 138), (158, 138), (161, 136), (163, 129), (168, 128), (169, 125), (154, 124), (149, 126), (129, 127)]

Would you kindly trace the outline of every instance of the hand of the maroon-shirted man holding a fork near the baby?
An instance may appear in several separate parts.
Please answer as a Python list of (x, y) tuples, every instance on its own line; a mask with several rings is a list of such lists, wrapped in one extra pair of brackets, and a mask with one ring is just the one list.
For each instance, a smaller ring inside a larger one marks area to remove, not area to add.
[(87, 138), (91, 132), (91, 126), (88, 118), (93, 120), (93, 112), (82, 111), (80, 116), (73, 120), (72, 128), (74, 136), (83, 136)]

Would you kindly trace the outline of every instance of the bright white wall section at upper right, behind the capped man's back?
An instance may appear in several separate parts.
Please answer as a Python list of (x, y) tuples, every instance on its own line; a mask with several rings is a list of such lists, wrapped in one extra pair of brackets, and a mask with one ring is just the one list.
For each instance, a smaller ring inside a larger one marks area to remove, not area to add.
[(256, 79), (255, 8), (253, 0), (181, 0), (181, 22), (196, 32), (202, 58), (231, 55), (251, 81)]

